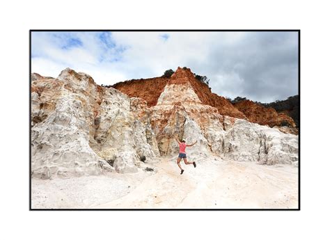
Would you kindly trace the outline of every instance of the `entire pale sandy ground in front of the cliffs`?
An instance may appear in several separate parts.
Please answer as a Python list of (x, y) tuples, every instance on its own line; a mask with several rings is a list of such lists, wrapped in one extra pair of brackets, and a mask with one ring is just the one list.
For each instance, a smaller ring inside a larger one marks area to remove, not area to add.
[(32, 179), (32, 208), (298, 207), (297, 167), (210, 160), (180, 175), (174, 160), (150, 166), (156, 173)]

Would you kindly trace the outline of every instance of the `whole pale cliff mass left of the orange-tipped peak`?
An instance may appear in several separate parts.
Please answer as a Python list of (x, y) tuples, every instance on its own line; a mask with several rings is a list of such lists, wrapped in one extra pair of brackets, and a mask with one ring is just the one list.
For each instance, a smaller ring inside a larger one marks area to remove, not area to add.
[(154, 161), (157, 151), (139, 134), (150, 127), (136, 122), (130, 103), (127, 95), (97, 86), (84, 73), (66, 69), (56, 79), (33, 74), (32, 175), (134, 173), (140, 156)]

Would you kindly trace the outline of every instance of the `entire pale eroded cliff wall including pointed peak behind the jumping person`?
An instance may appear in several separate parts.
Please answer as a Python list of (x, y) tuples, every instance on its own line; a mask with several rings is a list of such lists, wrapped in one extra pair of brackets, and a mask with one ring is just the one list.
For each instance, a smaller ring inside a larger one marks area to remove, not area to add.
[(184, 71), (172, 75), (153, 106), (70, 69), (56, 79), (33, 74), (33, 177), (136, 173), (141, 161), (176, 156), (175, 135), (197, 141), (187, 148), (191, 160), (297, 162), (297, 136), (222, 115), (226, 104), (205, 104)]

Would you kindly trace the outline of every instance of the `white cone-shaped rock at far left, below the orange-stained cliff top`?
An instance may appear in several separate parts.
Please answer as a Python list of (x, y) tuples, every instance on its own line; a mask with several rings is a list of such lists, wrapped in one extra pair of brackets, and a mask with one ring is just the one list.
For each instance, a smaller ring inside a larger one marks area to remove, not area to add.
[(33, 176), (80, 176), (111, 170), (88, 145), (88, 122), (84, 114), (81, 101), (63, 89), (54, 111), (31, 129)]

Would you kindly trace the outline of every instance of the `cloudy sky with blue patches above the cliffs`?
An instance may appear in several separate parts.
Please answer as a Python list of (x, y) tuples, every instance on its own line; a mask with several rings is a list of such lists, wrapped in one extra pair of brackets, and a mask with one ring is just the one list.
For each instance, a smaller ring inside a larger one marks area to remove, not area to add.
[(274, 102), (298, 94), (297, 32), (32, 32), (31, 68), (66, 67), (112, 85), (189, 67), (213, 93)]

